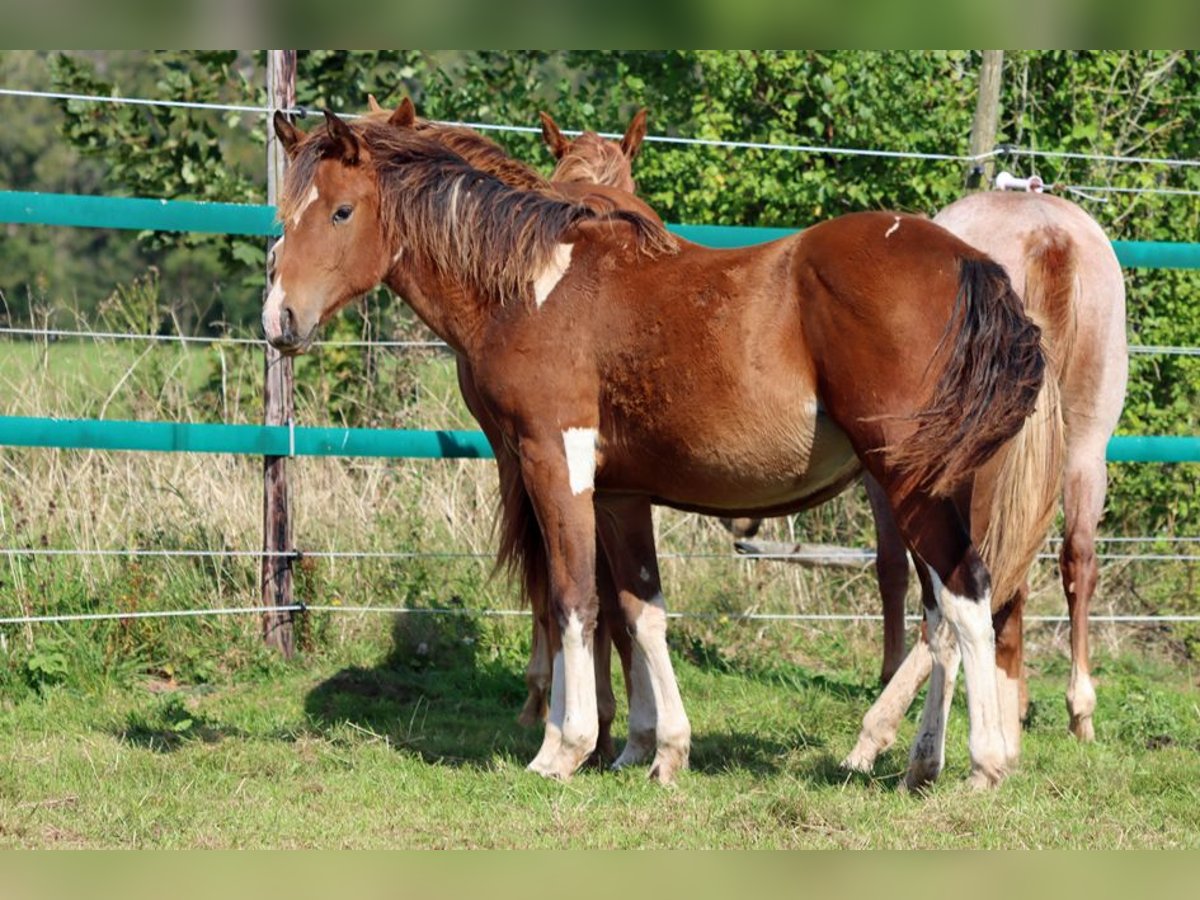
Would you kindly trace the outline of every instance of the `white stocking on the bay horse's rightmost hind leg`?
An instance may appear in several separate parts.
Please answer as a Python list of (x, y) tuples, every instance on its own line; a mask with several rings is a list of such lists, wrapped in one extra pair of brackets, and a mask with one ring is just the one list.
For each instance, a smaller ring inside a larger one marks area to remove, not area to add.
[(971, 782), (978, 787), (997, 785), (1004, 778), (1008, 751), (1000, 716), (996, 685), (996, 634), (991, 624), (991, 598), (973, 600), (954, 594), (932, 569), (934, 595), (942, 614), (954, 628), (962, 654), (967, 686), (967, 716), (971, 750)]

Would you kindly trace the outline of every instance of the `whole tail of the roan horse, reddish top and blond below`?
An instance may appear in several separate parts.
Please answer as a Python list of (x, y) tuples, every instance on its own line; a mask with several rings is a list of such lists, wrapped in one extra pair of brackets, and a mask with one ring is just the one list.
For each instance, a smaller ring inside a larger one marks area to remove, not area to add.
[(1075, 340), (1075, 244), (1058, 228), (1039, 229), (1025, 247), (1025, 308), (1042, 326), (1049, 372), (1037, 409), (1002, 451), (980, 554), (992, 596), (1006, 602), (1054, 522), (1066, 462), (1058, 379)]

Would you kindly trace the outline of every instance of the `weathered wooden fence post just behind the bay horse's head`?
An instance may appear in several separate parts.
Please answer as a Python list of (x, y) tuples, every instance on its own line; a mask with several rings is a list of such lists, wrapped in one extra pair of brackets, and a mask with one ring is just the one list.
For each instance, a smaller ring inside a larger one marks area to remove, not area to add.
[[(268, 50), (266, 104), (276, 109), (295, 107), (295, 50)], [(266, 121), (266, 202), (278, 202), (280, 181), (287, 158), (275, 137), (275, 126)], [(268, 253), (274, 238), (268, 239)], [(270, 287), (270, 286), (268, 286)], [(287, 425), (293, 420), (292, 358), (266, 346), (263, 395), (264, 424)], [(288, 457), (263, 457), (263, 640), (284, 656), (295, 650), (293, 635), (292, 518), (288, 509)]]

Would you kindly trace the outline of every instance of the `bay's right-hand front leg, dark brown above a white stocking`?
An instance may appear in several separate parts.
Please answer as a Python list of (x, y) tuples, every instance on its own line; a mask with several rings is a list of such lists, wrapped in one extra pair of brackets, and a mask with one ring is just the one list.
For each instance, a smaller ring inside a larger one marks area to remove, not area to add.
[(666, 600), (654, 551), (650, 504), (642, 498), (606, 498), (596, 521), (612, 564), (624, 624), (632, 637), (629, 738), (613, 768), (638, 763), (654, 750), (650, 778), (668, 784), (688, 766), (691, 725), (667, 652)]

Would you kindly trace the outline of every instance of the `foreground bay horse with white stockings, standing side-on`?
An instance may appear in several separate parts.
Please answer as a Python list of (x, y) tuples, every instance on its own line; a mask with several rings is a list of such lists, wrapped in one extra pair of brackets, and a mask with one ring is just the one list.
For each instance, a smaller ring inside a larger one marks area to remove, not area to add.
[(928, 566), (930, 634), (944, 617), (961, 648), (971, 780), (1003, 778), (990, 576), (955, 493), (1022, 430), (1045, 360), (996, 263), (931, 222), (882, 212), (707, 250), (626, 209), (505, 185), (418, 130), (326, 113), (308, 136), (282, 115), (276, 131), (292, 164), (268, 340), (301, 353), (384, 282), (467, 359), (520, 461), (559, 646), (530, 769), (566, 778), (596, 743), (598, 533), (635, 688), (654, 698), (653, 721), (631, 712), (630, 742), (655, 746), (652, 772), (671, 780), (690, 726), (650, 504), (781, 515), (865, 466)]

